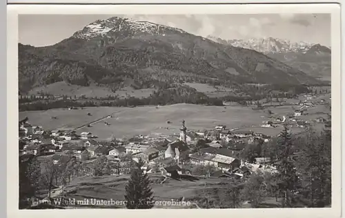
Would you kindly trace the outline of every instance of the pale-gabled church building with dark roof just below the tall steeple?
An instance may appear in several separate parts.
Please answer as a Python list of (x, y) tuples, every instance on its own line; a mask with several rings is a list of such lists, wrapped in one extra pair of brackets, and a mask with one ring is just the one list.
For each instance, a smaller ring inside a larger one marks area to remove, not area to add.
[(165, 152), (165, 157), (172, 157), (177, 161), (183, 161), (188, 158), (190, 148), (184, 141), (174, 141), (168, 144)]

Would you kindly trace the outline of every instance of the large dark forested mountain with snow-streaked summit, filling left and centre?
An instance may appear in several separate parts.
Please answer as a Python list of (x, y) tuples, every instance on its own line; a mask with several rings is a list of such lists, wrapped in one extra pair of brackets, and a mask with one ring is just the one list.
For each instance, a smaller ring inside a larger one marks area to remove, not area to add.
[(19, 43), (21, 92), (59, 81), (113, 90), (125, 86), (164, 89), (183, 82), (320, 83), (255, 50), (120, 17), (90, 23), (53, 46)]

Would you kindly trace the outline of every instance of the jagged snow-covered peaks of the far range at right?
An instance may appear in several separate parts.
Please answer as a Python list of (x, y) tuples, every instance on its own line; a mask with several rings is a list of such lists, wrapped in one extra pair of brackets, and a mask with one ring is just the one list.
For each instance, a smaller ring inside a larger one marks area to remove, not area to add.
[(264, 37), (257, 39), (219, 39), (217, 37), (208, 37), (217, 43), (228, 44), (235, 47), (248, 48), (262, 52), (264, 54), (272, 53), (286, 53), (286, 52), (299, 52), (305, 53), (310, 50), (315, 44), (306, 43), (304, 41), (292, 42), (287, 39), (276, 39), (273, 37)]

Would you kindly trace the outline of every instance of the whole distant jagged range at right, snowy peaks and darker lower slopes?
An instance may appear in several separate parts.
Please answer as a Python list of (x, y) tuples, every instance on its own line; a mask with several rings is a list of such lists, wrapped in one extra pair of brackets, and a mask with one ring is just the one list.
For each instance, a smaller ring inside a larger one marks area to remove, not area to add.
[(295, 43), (273, 37), (226, 40), (209, 36), (208, 39), (224, 45), (256, 50), (313, 77), (331, 79), (331, 48), (327, 46), (304, 41)]

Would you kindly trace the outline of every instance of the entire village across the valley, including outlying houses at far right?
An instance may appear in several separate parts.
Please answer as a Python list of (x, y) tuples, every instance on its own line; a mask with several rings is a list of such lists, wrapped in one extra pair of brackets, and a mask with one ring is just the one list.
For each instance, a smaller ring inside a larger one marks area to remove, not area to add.
[[(313, 101), (315, 97), (311, 95), (305, 97), (308, 100), (297, 103), (298, 110), (282, 117), (273, 116), (269, 121), (257, 126), (299, 128), (297, 134), (306, 132), (313, 124), (322, 124), (324, 128), (330, 128), (330, 121), (324, 117), (314, 120), (299, 119), (308, 108), (325, 103), (324, 99)], [(217, 169), (212, 173), (206, 172), (203, 176), (233, 179), (244, 179), (246, 175), (257, 170), (275, 172), (274, 161), (270, 157), (255, 157), (248, 160), (240, 154), (247, 145), (269, 143), (279, 135), (264, 135), (253, 130), (228, 128), (223, 124), (215, 126), (213, 130), (193, 131), (188, 130), (184, 120), (181, 121), (179, 131), (178, 135), (161, 135), (154, 138), (137, 135), (131, 139), (104, 141), (97, 139), (92, 132), (81, 132), (77, 135), (75, 130), (44, 130), (42, 126), (30, 125), (26, 118), (19, 122), (19, 155), (52, 157), (55, 164), (59, 164), (61, 157), (66, 156), (89, 164), (97, 157), (103, 156), (114, 164), (113, 175), (128, 174), (130, 168), (126, 167), (127, 162), (139, 159), (146, 164), (146, 173), (161, 173), (164, 177), (190, 175), (193, 166), (212, 166)], [(92, 172), (86, 173), (88, 174), (91, 175)]]

